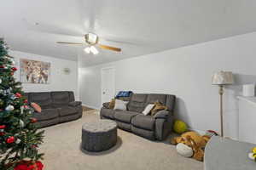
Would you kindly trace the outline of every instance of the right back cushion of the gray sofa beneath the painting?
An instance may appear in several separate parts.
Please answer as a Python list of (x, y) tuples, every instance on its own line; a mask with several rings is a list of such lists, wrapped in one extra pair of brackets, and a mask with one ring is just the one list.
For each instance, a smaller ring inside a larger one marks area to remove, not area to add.
[(55, 108), (66, 106), (70, 102), (68, 92), (51, 92), (50, 94)]

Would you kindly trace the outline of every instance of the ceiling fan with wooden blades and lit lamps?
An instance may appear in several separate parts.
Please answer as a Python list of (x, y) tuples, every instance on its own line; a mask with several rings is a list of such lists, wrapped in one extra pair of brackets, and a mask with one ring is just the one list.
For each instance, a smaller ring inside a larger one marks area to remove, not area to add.
[[(121, 52), (121, 48), (114, 48), (114, 47), (110, 47), (107, 45), (102, 45), (99, 44), (99, 37), (92, 32), (89, 32), (88, 34), (84, 35), (84, 39), (85, 39), (85, 44), (88, 45), (88, 47), (84, 48), (84, 52), (87, 54), (98, 54), (99, 51), (97, 50), (96, 47), (98, 48), (102, 48), (102, 49), (108, 49), (108, 50), (113, 50), (116, 52)], [(84, 43), (78, 43), (78, 42), (57, 42), (57, 43), (62, 43), (62, 44), (70, 44), (70, 45), (84, 45)]]

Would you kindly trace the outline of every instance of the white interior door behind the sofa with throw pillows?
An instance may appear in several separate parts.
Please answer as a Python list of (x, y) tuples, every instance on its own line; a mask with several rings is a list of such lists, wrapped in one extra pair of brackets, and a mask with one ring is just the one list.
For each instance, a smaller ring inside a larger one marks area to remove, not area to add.
[(102, 103), (109, 102), (115, 95), (114, 69), (102, 69)]

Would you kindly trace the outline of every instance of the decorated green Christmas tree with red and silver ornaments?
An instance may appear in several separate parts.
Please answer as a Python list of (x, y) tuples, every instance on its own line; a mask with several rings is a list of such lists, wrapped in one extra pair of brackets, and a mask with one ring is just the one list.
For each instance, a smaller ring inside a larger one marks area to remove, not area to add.
[(0, 38), (0, 169), (42, 169), (38, 146), (44, 131), (35, 126), (37, 120), (32, 118), (21, 83), (15, 81), (15, 71), (15, 61)]

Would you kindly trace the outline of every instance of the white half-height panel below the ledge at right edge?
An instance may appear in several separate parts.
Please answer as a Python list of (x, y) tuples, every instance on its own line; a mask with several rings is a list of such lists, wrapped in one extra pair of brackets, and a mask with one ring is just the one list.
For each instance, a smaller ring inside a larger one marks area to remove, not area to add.
[(239, 96), (239, 140), (256, 144), (256, 98)]

